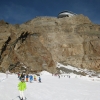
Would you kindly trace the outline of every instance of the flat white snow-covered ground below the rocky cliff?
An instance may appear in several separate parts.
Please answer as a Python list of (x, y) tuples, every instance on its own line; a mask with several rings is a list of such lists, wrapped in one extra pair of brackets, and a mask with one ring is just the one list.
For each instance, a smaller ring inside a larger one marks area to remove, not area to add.
[[(70, 75), (52, 76), (44, 72), (42, 83), (27, 82), (25, 96), (27, 100), (100, 100), (100, 79)], [(38, 78), (38, 77), (37, 77)], [(0, 100), (19, 100), (16, 74), (0, 73)]]

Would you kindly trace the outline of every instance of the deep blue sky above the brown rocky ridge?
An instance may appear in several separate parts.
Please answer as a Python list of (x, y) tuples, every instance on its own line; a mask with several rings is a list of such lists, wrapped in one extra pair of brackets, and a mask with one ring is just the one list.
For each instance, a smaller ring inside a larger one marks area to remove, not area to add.
[(10, 24), (21, 24), (36, 16), (57, 17), (65, 10), (100, 24), (100, 0), (0, 0), (0, 20)]

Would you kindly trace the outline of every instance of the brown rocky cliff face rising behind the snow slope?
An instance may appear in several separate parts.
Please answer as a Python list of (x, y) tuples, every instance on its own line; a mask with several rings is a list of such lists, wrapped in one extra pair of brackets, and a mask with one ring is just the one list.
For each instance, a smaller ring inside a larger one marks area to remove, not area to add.
[(100, 70), (100, 25), (83, 15), (0, 21), (0, 70), (56, 72), (56, 63)]

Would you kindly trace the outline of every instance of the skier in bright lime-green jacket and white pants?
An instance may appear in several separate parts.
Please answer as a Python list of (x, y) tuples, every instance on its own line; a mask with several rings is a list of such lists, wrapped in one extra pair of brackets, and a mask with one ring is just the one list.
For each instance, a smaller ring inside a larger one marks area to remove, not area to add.
[(22, 78), (21, 82), (18, 83), (18, 90), (20, 93), (20, 100), (25, 100), (24, 91), (26, 90), (26, 83), (24, 78)]

